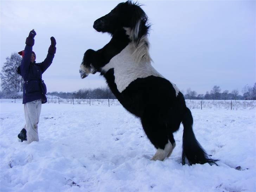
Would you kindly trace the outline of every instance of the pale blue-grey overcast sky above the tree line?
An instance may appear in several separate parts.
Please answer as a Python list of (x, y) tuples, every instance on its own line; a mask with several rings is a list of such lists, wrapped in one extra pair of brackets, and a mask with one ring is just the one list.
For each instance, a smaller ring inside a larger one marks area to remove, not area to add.
[[(80, 78), (87, 49), (101, 49), (110, 35), (98, 33), (94, 21), (124, 1), (3, 1), (0, 2), (0, 64), (24, 50), (28, 33), (37, 33), (33, 51), (42, 62), (50, 45), (57, 51), (43, 74), (47, 91), (78, 91), (106, 86), (96, 73)], [(152, 64), (180, 90), (205, 94), (214, 85), (222, 91), (256, 82), (255, 1), (138, 1), (152, 24)]]

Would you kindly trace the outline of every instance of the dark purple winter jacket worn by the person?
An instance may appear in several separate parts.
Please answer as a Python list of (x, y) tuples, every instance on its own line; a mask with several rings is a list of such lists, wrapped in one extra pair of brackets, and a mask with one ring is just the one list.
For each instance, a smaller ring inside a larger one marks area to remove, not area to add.
[(42, 74), (52, 64), (54, 54), (48, 53), (42, 63), (36, 63), (36, 61), (31, 63), (31, 53), (32, 46), (26, 45), (20, 65), (21, 76), (24, 79), (23, 104), (38, 99), (42, 99), (42, 103), (46, 103), (46, 85), (42, 80)]

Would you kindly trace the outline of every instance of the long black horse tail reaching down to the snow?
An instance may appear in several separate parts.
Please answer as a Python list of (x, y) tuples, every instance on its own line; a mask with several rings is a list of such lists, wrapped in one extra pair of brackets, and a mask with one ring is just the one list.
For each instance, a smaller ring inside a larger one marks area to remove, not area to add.
[[(186, 108), (183, 116), (183, 152), (182, 152), (182, 164), (185, 164), (185, 158), (189, 161), (190, 165), (192, 164), (205, 164), (209, 163), (210, 165), (216, 164), (215, 159), (209, 158), (204, 149), (201, 147), (197, 141), (192, 125), (193, 117), (191, 111)], [(217, 164), (216, 164), (217, 165)]]

